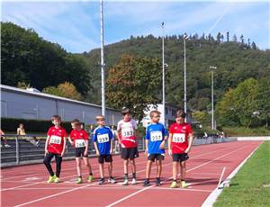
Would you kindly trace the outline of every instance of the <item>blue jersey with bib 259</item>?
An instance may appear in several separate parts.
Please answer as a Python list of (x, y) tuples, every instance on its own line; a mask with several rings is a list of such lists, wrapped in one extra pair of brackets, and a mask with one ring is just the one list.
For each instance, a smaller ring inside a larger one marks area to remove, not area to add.
[(110, 155), (112, 130), (110, 127), (98, 126), (94, 129), (93, 141), (96, 142), (100, 155)]

